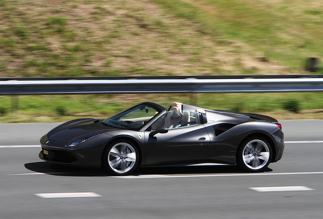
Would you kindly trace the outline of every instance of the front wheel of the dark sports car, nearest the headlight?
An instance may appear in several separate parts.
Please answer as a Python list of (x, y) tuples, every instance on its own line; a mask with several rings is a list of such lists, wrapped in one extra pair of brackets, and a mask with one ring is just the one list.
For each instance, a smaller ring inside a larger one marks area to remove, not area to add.
[(138, 149), (129, 140), (114, 141), (105, 151), (105, 168), (112, 175), (128, 175), (139, 163)]

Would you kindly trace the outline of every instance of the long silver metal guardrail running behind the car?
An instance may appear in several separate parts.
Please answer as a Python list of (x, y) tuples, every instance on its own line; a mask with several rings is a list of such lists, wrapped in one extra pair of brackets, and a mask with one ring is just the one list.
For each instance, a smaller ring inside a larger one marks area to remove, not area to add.
[(322, 91), (322, 75), (0, 79), (0, 95), (273, 93)]

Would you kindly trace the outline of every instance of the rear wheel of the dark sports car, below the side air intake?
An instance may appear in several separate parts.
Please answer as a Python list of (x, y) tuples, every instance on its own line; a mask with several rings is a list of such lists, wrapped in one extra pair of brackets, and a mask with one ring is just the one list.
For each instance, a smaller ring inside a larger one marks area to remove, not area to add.
[(262, 137), (245, 140), (238, 149), (237, 164), (247, 172), (263, 172), (272, 158), (272, 149)]

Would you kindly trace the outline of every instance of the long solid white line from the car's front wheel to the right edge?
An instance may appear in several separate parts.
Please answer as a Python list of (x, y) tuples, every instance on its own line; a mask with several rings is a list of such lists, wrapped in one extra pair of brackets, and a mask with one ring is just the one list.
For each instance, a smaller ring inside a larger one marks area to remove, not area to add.
[(270, 175), (301, 175), (323, 174), (323, 172), (290, 172), (290, 173), (238, 173), (238, 174), (203, 174), (203, 175), (129, 175), (109, 176), (112, 178), (144, 179), (144, 178), (187, 178), (187, 177), (217, 177), (217, 176), (270, 176)]

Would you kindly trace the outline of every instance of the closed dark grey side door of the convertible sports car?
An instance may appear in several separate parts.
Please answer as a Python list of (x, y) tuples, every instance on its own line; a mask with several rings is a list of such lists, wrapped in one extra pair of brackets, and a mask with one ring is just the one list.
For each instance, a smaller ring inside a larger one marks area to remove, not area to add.
[(210, 138), (206, 128), (192, 125), (168, 129), (167, 133), (150, 134), (145, 131), (146, 165), (180, 163), (201, 160)]

